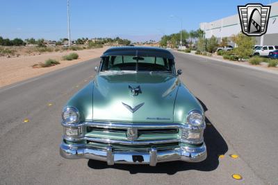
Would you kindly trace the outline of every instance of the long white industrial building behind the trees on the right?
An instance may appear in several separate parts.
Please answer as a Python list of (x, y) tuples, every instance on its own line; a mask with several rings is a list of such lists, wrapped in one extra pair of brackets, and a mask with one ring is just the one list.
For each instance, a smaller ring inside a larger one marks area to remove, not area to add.
[[(269, 4), (271, 6), (270, 18), (268, 21), (268, 30), (265, 35), (256, 38), (256, 44), (263, 45), (278, 45), (278, 2)], [(237, 8), (237, 7), (236, 7)], [(238, 14), (230, 17), (224, 17), (212, 22), (203, 22), (199, 24), (199, 28), (205, 31), (205, 37), (210, 38), (212, 35), (218, 37), (228, 37), (231, 40), (233, 35), (241, 32), (240, 19)], [(234, 45), (232, 42), (231, 45)]]

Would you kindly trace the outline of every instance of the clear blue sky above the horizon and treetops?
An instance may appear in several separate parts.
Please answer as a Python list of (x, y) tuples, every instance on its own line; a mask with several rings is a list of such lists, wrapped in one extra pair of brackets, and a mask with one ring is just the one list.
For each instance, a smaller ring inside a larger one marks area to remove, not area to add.
[[(158, 40), (163, 34), (199, 28), (199, 23), (237, 13), (238, 5), (275, 1), (70, 0), (72, 39), (124, 37)], [(67, 37), (67, 0), (0, 0), (0, 36)]]

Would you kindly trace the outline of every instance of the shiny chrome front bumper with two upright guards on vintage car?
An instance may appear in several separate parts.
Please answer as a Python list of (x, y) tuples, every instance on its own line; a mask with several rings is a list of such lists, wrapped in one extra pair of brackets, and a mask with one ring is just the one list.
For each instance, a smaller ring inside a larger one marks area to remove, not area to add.
[(155, 147), (149, 152), (137, 151), (113, 151), (113, 146), (106, 149), (86, 148), (83, 144), (68, 145), (64, 141), (60, 144), (60, 155), (66, 159), (95, 159), (113, 164), (149, 164), (156, 166), (157, 163), (166, 161), (200, 162), (206, 159), (205, 143), (199, 147), (180, 147), (173, 150), (158, 151)]

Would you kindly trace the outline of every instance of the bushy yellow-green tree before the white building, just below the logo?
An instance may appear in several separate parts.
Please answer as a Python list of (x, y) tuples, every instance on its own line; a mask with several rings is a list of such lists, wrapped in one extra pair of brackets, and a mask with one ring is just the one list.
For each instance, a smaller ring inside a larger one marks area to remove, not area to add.
[(234, 53), (238, 55), (238, 58), (242, 60), (245, 57), (249, 57), (253, 53), (253, 45), (255, 44), (254, 37), (248, 37), (243, 33), (238, 33), (235, 37), (237, 47), (234, 49)]

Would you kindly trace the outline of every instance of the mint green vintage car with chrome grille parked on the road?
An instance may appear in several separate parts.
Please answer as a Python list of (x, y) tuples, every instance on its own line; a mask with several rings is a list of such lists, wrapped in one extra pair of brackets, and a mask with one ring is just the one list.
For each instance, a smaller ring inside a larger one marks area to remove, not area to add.
[(170, 51), (111, 48), (96, 71), (63, 109), (61, 156), (150, 166), (206, 159), (204, 110)]

